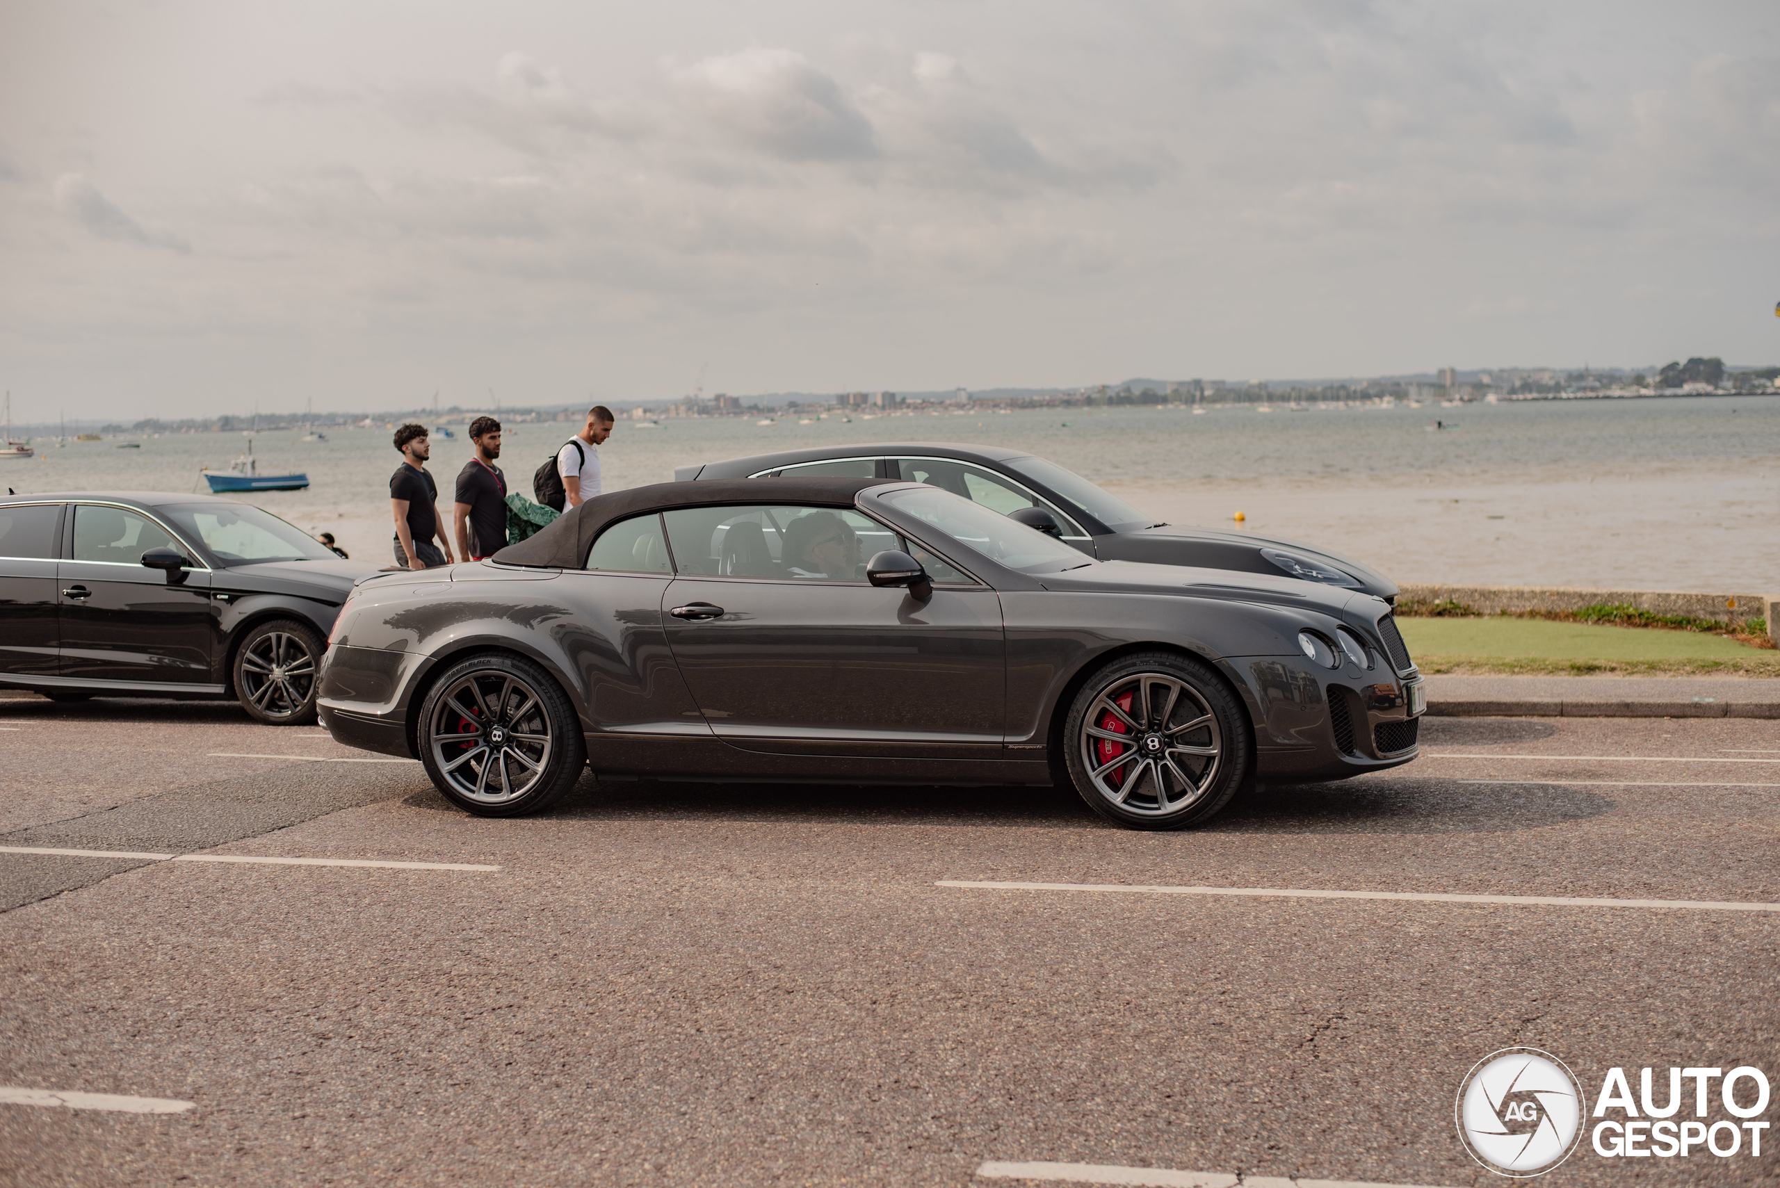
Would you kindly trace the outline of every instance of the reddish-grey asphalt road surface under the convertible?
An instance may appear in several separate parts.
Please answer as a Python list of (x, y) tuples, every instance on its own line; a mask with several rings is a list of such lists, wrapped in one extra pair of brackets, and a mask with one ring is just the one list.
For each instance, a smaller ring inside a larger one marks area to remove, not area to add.
[[(491, 822), (226, 706), (0, 701), (0, 847), (500, 868), (0, 852), (0, 1087), (196, 1103), (0, 1104), (0, 1183), (1493, 1184), (1452, 1097), (1495, 1049), (1588, 1096), (1613, 1065), (1659, 1097), (1668, 1065), (1780, 1074), (1780, 912), (938, 886), (1780, 903), (1780, 722), (1422, 740), (1184, 834), (1045, 791), (591, 777)], [(1584, 1138), (1540, 1183), (1775, 1183), (1776, 1147)]]

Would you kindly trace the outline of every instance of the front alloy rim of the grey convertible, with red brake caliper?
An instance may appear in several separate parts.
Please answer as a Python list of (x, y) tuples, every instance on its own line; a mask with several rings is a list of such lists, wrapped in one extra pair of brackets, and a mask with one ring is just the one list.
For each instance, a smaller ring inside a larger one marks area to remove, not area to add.
[(1093, 790), (1139, 816), (1178, 813), (1223, 774), (1218, 715), (1166, 672), (1134, 672), (1102, 688), (1082, 717), (1079, 745)]

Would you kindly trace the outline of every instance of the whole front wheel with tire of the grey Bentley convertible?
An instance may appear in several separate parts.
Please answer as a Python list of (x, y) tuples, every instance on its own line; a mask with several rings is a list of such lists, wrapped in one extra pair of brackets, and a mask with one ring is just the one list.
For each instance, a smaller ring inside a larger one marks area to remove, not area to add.
[(1077, 795), (1100, 816), (1127, 829), (1191, 829), (1230, 804), (1253, 745), (1242, 702), (1210, 667), (1141, 653), (1082, 685), (1063, 756)]

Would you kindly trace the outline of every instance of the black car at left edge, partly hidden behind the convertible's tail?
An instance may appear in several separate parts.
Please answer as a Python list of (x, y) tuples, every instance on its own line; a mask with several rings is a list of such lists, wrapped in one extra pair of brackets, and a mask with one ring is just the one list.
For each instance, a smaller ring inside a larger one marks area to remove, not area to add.
[(0, 685), (55, 701), (239, 697), (315, 720), (328, 631), (376, 566), (210, 494), (0, 498)]

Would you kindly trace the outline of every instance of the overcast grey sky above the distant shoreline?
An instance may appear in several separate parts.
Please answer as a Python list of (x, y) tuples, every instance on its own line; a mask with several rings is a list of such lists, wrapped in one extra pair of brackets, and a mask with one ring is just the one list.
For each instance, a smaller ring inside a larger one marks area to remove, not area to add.
[(1780, 361), (1780, 5), (0, 0), (16, 416)]

